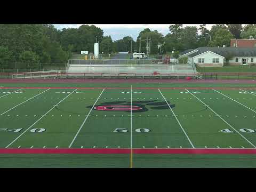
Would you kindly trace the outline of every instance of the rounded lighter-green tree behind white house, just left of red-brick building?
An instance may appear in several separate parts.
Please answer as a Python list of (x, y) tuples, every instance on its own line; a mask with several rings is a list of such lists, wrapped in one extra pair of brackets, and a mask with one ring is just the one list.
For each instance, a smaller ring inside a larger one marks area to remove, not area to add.
[(222, 46), (230, 45), (230, 39), (234, 38), (234, 36), (227, 29), (218, 29), (212, 38), (212, 41), (209, 43), (209, 46)]

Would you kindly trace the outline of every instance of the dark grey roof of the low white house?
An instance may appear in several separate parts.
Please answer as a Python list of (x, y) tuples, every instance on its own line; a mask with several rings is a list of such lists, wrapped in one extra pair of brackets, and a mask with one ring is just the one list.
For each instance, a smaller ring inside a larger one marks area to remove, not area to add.
[(234, 55), (234, 57), (256, 57), (256, 47), (198, 47), (197, 52), (191, 53), (188, 57), (195, 57), (206, 51), (211, 51), (223, 57)]

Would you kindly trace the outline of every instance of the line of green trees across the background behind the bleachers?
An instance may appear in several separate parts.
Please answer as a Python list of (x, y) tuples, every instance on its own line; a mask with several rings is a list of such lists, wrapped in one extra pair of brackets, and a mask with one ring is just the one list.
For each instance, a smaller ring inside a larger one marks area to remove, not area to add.
[[(10, 68), (11, 62), (24, 62), (24, 68), (36, 68), (37, 63), (65, 63), (72, 53), (93, 52), (94, 43), (99, 42), (100, 52), (147, 52), (147, 38), (150, 37), (150, 54), (173, 53), (195, 49), (199, 46), (230, 46), (230, 39), (256, 38), (256, 25), (217, 24), (211, 30), (205, 24), (183, 27), (170, 25), (169, 34), (163, 35), (148, 28), (139, 32), (137, 39), (125, 36), (113, 41), (104, 36), (103, 30), (94, 25), (58, 30), (51, 24), (0, 25), (0, 68)], [(159, 45), (162, 45), (159, 47)], [(132, 47), (131, 47), (132, 46)]]

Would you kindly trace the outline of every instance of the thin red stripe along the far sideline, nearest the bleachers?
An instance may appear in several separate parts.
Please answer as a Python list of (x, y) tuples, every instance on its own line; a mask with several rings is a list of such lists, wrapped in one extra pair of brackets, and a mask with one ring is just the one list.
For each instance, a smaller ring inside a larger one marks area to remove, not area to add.
[[(131, 87), (1, 87), (1, 89), (131, 89)], [(223, 89), (255, 90), (256, 87), (132, 87), (132, 89)]]

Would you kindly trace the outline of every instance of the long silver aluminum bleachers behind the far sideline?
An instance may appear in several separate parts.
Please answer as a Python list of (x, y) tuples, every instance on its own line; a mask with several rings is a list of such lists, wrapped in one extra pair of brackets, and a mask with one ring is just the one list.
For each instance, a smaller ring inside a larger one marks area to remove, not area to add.
[(71, 64), (68, 76), (197, 76), (194, 65), (84, 65)]

